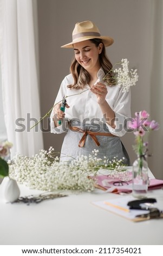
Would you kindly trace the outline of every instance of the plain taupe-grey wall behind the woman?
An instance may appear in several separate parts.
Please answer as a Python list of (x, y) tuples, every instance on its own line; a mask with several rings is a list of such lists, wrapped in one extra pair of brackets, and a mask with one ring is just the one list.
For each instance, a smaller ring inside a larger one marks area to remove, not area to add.
[[(69, 74), (73, 50), (61, 45), (71, 41), (75, 23), (84, 20), (94, 21), (102, 35), (114, 38), (107, 48), (113, 64), (127, 58), (131, 68), (138, 69), (139, 81), (132, 88), (132, 116), (143, 109), (150, 111), (152, 4), (153, 0), (37, 0), (42, 116), (53, 106), (60, 83)], [(47, 120), (43, 125), (47, 128)], [(63, 136), (44, 132), (45, 149), (52, 145), (60, 151)], [(122, 142), (133, 162), (133, 133), (127, 133)]]

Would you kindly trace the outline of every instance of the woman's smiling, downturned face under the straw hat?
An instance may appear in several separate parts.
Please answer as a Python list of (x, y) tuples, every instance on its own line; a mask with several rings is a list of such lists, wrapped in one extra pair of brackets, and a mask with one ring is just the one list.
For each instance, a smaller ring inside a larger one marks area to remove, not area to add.
[(96, 46), (90, 40), (76, 42), (74, 44), (75, 59), (88, 72), (100, 69), (99, 54), (102, 51), (102, 44)]

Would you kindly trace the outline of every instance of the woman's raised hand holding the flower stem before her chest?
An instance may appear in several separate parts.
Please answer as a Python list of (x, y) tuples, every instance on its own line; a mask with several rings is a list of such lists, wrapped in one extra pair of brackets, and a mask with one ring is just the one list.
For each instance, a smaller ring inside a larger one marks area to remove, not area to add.
[(94, 93), (97, 96), (97, 102), (99, 104), (102, 104), (105, 102), (106, 95), (108, 93), (108, 90), (106, 88), (106, 85), (103, 83), (96, 83), (90, 88), (91, 92)]

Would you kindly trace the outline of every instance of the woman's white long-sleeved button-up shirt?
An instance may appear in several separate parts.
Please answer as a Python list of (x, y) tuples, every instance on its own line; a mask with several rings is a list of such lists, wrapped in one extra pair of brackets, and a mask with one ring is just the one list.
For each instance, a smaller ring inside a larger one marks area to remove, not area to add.
[[(102, 68), (97, 72), (97, 82), (103, 82), (102, 79), (105, 76)], [(62, 101), (63, 96), (66, 97), (69, 108), (65, 108), (65, 119), (60, 126), (55, 127), (53, 116), (54, 112), (50, 115), (50, 127), (53, 133), (62, 133), (65, 131), (65, 127), (68, 129), (68, 121), (75, 119), (81, 123), (85, 122), (90, 124), (91, 120), (97, 119), (99, 123), (106, 123), (103, 113), (99, 104), (97, 103), (97, 98), (94, 93), (90, 90), (87, 84), (84, 89), (70, 89), (67, 86), (73, 84), (74, 78), (71, 74), (66, 76), (61, 83), (61, 87), (58, 91), (56, 103)], [(105, 83), (105, 82), (103, 82)], [(87, 90), (86, 92), (83, 92)], [(108, 93), (106, 95), (106, 101), (109, 106), (113, 109), (115, 113), (115, 129), (110, 125), (107, 125), (109, 132), (116, 136), (123, 136), (126, 133), (125, 119), (131, 117), (131, 93), (122, 92), (122, 88), (118, 86), (107, 86)], [(81, 93), (81, 94), (80, 94)], [(79, 95), (76, 95), (79, 94)], [(74, 96), (73, 96), (74, 95)]]

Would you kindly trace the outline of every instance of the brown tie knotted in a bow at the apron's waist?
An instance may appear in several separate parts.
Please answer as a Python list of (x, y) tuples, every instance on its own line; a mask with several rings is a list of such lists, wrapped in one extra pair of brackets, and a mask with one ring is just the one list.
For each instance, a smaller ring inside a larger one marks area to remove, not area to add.
[(100, 146), (100, 143), (99, 141), (97, 140), (96, 138), (96, 135), (99, 135), (99, 136), (110, 136), (110, 137), (116, 137), (115, 135), (113, 135), (112, 133), (106, 133), (106, 132), (92, 132), (92, 131), (83, 131), (81, 130), (79, 127), (75, 127), (75, 126), (70, 126), (70, 130), (71, 131), (75, 131), (75, 132), (82, 132), (83, 133), (83, 136), (78, 144), (78, 146), (80, 148), (82, 148), (86, 142), (86, 138), (87, 138), (87, 135), (90, 135), (90, 137), (92, 137), (93, 141), (95, 142), (95, 144), (97, 145), (97, 147)]

